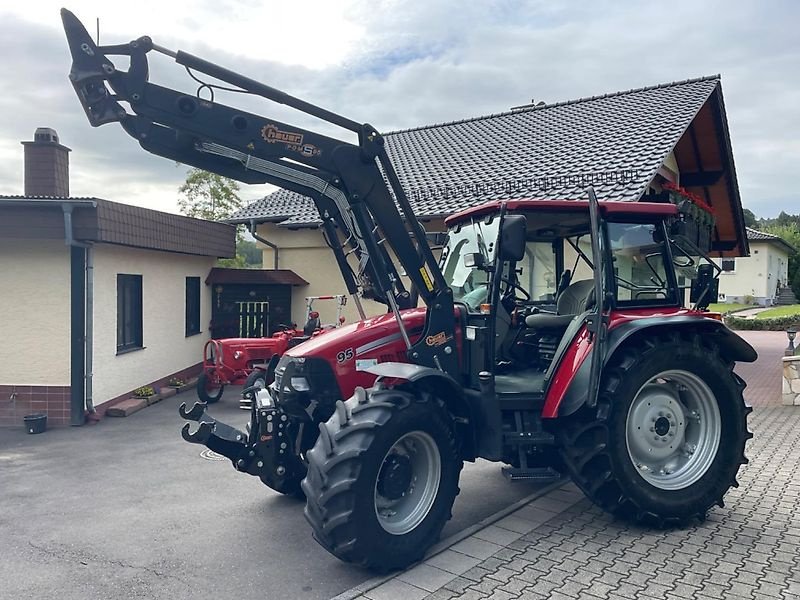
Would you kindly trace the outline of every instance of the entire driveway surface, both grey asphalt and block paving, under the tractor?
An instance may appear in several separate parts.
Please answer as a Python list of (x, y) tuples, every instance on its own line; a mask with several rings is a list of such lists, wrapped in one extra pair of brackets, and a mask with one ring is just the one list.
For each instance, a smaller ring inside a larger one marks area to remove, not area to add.
[[(524, 533), (496, 525), (475, 534), (480, 543), (466, 540), (449, 550), (451, 562), (440, 559), (431, 568), (453, 569), (454, 559), (470, 565), (458, 574), (444, 570), (449, 587), (426, 590), (397, 579), (412, 587), (395, 583), (399, 595), (368, 597), (662, 598), (664, 586), (676, 598), (706, 592), (707, 598), (739, 592), (780, 598), (763, 595), (776, 590), (800, 597), (800, 411), (770, 407), (780, 398), (786, 340), (780, 332), (744, 337), (761, 356), (738, 368), (749, 382), (748, 401), (758, 407), (752, 462), (742, 472), (743, 487), (706, 524), (639, 530), (611, 521), (574, 493), (571, 503), (568, 493), (553, 495), (528, 507), (535, 527)], [(226, 396), (214, 412), (243, 423), (235, 391)], [(370, 578), (311, 540), (300, 503), (227, 462), (200, 458), (202, 447), (184, 443), (177, 405), (187, 398), (194, 395), (93, 427), (43, 435), (0, 430), (0, 598), (314, 599)], [(488, 463), (468, 466), (461, 488), (445, 536), (536, 489), (508, 484)], [(520, 528), (514, 519), (504, 523)], [(504, 546), (509, 531), (518, 535)], [(493, 552), (484, 556), (487, 547)], [(422, 581), (419, 574), (405, 578)]]

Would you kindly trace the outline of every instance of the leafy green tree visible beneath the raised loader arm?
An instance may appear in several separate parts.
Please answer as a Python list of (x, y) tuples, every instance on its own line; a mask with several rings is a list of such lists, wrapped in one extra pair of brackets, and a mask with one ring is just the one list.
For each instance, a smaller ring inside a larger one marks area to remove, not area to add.
[(221, 221), (242, 208), (236, 181), (201, 169), (190, 169), (178, 192), (178, 208), (187, 217)]

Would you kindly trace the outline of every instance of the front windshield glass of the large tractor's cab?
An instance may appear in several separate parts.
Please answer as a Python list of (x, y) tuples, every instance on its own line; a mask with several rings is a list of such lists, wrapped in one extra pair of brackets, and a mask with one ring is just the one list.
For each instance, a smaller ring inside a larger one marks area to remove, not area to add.
[(495, 246), (500, 219), (478, 219), (464, 223), (449, 232), (447, 246), (442, 252), (442, 273), (453, 290), (453, 300), (478, 310), (487, 302), (489, 273), (477, 267), (464, 265), (468, 254), (480, 254), (485, 265), (494, 262)]

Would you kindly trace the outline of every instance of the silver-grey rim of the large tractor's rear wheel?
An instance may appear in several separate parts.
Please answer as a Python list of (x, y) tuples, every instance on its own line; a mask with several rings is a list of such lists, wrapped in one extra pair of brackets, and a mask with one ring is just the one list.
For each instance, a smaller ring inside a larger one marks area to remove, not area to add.
[(694, 373), (659, 373), (628, 410), (628, 455), (639, 475), (662, 490), (685, 489), (705, 475), (721, 437), (714, 393)]

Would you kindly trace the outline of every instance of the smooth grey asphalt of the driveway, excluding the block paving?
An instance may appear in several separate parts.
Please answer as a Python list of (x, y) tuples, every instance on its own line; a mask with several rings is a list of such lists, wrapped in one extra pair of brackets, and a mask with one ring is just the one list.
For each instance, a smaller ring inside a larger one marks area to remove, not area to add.
[[(237, 393), (212, 412), (243, 426)], [(0, 429), (0, 599), (321, 599), (371, 577), (312, 540), (301, 502), (181, 439), (177, 407), (195, 398), (41, 435)], [(445, 535), (540, 486), (481, 461), (461, 488)]]

